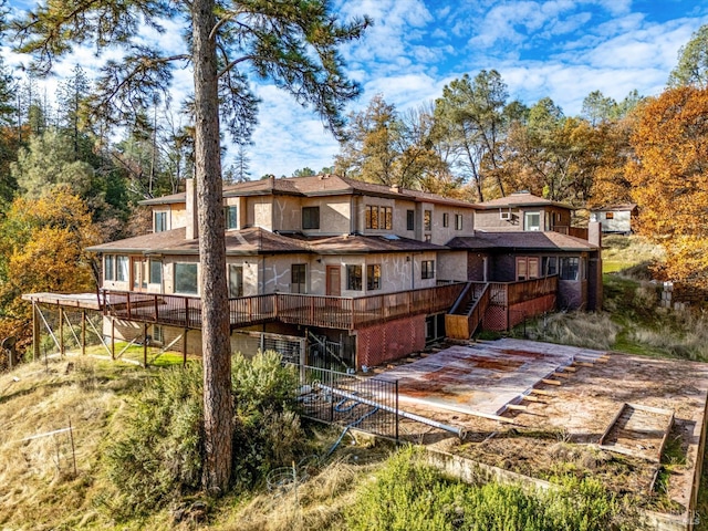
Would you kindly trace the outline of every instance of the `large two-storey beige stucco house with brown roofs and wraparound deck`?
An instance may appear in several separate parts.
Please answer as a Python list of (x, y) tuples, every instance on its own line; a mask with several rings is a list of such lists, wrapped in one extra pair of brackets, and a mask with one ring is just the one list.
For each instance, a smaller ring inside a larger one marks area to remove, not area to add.
[[(198, 353), (208, 294), (194, 183), (143, 205), (152, 233), (88, 249), (103, 261), (103, 333)], [(501, 211), (517, 225), (499, 226), (510, 221)], [(361, 367), (419, 351), (447, 329), (469, 337), (601, 303), (598, 242), (556, 232), (571, 209), (528, 194), (472, 205), (334, 175), (269, 178), (225, 187), (223, 215), (235, 351)]]

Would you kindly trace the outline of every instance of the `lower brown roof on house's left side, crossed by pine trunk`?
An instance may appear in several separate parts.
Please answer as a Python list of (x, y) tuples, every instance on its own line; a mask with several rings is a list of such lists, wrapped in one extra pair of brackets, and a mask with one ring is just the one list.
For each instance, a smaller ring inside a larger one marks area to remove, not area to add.
[[(87, 248), (93, 252), (128, 252), (163, 254), (199, 254), (199, 240), (185, 239), (186, 229), (153, 232)], [(225, 233), (227, 254), (262, 254), (310, 252), (306, 244), (293, 238), (253, 227)]]

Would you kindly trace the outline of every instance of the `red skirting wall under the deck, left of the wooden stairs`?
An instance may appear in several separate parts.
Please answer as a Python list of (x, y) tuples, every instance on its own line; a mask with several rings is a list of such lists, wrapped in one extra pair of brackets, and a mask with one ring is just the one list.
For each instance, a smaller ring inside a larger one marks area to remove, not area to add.
[(425, 315), (376, 324), (356, 332), (356, 366), (375, 366), (425, 348)]

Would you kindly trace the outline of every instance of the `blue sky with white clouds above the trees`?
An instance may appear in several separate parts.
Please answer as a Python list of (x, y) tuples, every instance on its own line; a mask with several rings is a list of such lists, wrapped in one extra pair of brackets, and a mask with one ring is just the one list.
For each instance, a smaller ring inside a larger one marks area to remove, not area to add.
[[(23, 9), (31, 2), (15, 0)], [(615, 100), (636, 88), (658, 94), (677, 63), (678, 50), (708, 23), (708, 0), (333, 0), (342, 17), (374, 20), (365, 37), (344, 49), (348, 74), (361, 83), (358, 111), (376, 94), (405, 111), (438, 97), (442, 87), (469, 73), (496, 69), (510, 98), (527, 105), (550, 96), (566, 115), (601, 91)], [(166, 49), (179, 48), (177, 27), (146, 34)], [(6, 43), (7, 44), (7, 43)], [(6, 62), (23, 58), (2, 48)], [(76, 50), (59, 76), (80, 63), (96, 64), (90, 50)], [(53, 93), (50, 83), (49, 93)], [(175, 88), (188, 91), (189, 71), (177, 71)], [(291, 175), (332, 164), (337, 143), (320, 119), (273, 86), (259, 86), (260, 124), (249, 146), (253, 178)], [(229, 164), (232, 150), (225, 163)]]

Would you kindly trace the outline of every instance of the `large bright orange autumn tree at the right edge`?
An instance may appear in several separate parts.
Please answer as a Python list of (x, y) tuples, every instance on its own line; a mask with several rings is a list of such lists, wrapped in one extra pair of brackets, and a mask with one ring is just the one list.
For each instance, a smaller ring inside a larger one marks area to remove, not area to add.
[(666, 277), (708, 289), (708, 90), (669, 88), (642, 107), (626, 175), (639, 231), (666, 249)]

